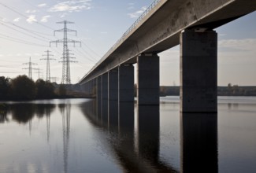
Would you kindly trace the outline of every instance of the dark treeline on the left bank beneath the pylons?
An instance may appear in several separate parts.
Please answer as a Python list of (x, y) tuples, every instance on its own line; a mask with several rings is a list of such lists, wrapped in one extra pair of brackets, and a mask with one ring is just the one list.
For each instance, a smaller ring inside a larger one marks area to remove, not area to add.
[(0, 100), (19, 101), (33, 99), (61, 98), (66, 96), (65, 86), (38, 79), (35, 82), (27, 75), (14, 79), (0, 76)]

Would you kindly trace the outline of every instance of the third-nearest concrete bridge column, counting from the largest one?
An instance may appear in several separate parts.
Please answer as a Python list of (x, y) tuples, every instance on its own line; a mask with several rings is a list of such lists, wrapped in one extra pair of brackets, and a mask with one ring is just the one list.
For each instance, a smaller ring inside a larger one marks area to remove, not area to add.
[(134, 102), (134, 67), (120, 65), (118, 67), (118, 101)]

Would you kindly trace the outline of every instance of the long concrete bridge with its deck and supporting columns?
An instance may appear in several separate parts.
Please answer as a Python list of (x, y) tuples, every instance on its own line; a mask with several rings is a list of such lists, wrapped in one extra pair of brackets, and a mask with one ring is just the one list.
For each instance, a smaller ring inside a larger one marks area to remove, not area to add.
[(133, 102), (136, 63), (137, 104), (159, 105), (158, 53), (180, 44), (180, 112), (217, 112), (213, 29), (255, 9), (255, 0), (156, 0), (80, 85), (95, 91), (98, 108)]

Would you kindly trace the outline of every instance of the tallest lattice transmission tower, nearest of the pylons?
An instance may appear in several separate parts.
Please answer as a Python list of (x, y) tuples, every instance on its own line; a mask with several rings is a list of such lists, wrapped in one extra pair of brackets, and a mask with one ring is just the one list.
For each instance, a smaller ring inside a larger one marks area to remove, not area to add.
[(69, 56), (69, 42), (72, 42), (74, 44), (74, 46), (76, 46), (76, 43), (80, 43), (81, 46), (81, 42), (76, 41), (76, 40), (72, 40), (72, 39), (68, 39), (68, 32), (69, 31), (74, 31), (72, 29), (67, 28), (67, 24), (74, 24), (73, 22), (69, 22), (67, 20), (61, 21), (61, 22), (57, 22), (57, 24), (64, 24), (64, 28), (60, 29), (60, 30), (55, 30), (54, 31), (54, 35), (56, 31), (62, 31), (64, 33), (64, 37), (63, 39), (58, 39), (56, 41), (52, 41), (51, 43), (55, 42), (56, 46), (58, 45), (58, 42), (63, 42), (63, 57), (61, 57), (63, 60), (60, 61), (62, 63), (62, 78), (61, 78), (61, 83), (62, 84), (70, 84), (70, 63), (71, 62), (76, 62), (76, 61), (70, 61), (70, 58), (75, 58), (75, 57), (70, 57)]

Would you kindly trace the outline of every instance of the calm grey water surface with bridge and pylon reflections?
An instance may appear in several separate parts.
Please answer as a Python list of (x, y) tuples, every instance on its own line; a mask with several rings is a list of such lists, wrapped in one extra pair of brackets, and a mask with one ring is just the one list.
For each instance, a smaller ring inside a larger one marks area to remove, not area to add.
[(0, 172), (256, 172), (256, 97), (219, 97), (217, 114), (95, 103), (0, 103)]

